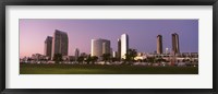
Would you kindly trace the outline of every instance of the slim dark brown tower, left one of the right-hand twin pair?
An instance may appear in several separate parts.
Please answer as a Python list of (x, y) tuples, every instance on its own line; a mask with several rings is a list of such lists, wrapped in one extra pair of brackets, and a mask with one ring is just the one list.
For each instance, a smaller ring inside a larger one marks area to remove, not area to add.
[(162, 54), (162, 36), (161, 35), (157, 36), (157, 54), (158, 55)]

